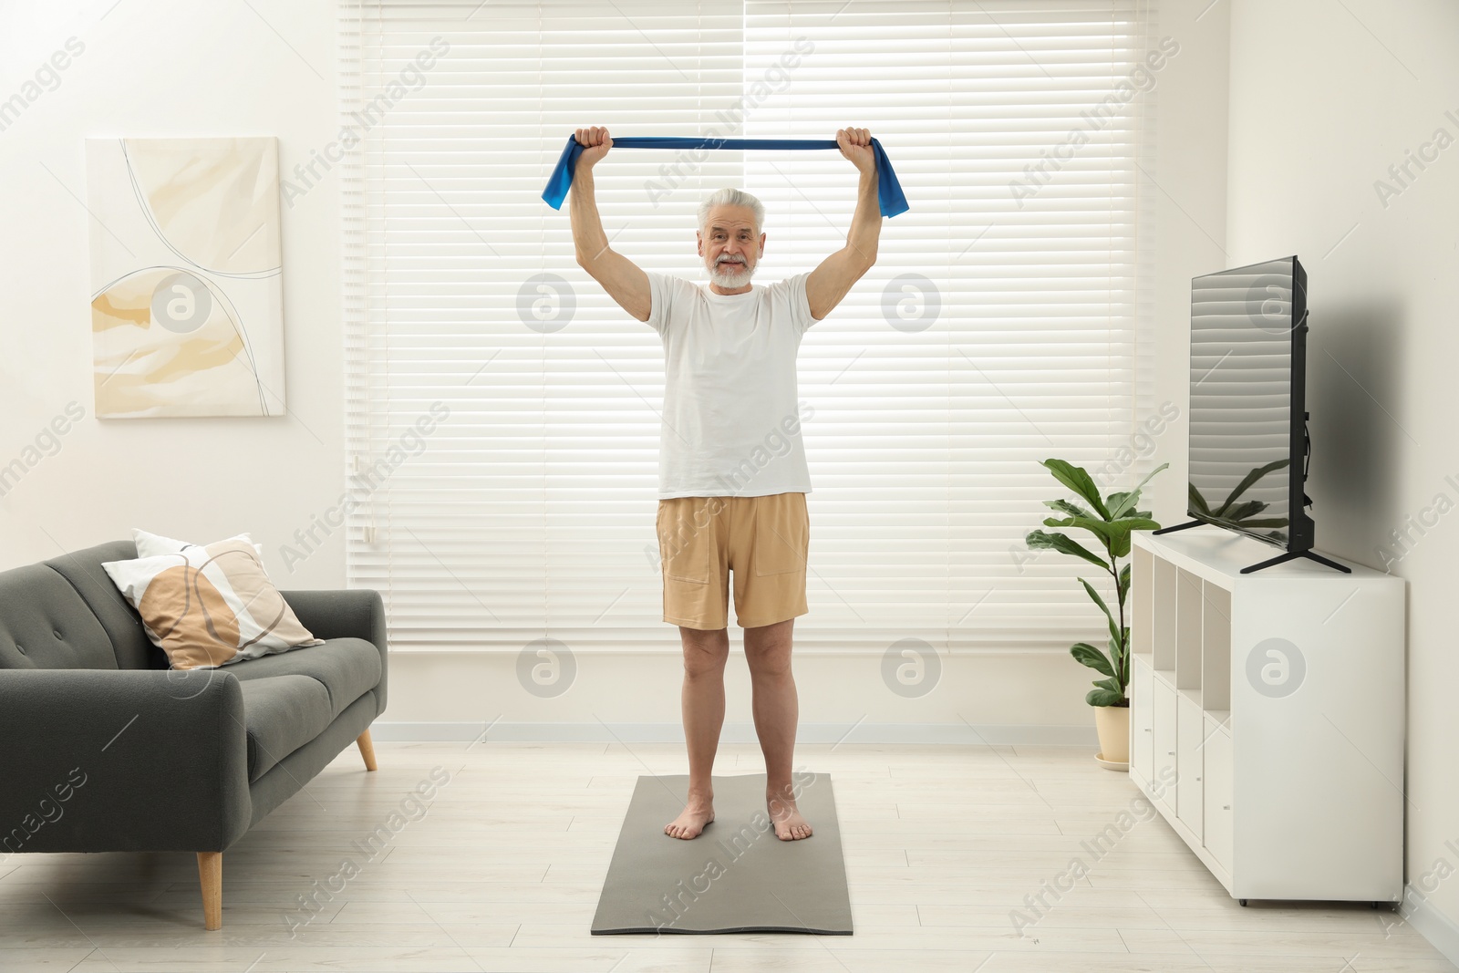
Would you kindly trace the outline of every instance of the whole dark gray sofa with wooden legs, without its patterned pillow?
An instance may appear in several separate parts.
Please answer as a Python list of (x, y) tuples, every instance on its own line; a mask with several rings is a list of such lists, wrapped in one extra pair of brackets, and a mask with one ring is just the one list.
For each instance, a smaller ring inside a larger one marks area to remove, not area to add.
[(324, 645), (169, 670), (102, 562), (111, 541), (0, 572), (0, 858), (194, 852), (222, 928), (222, 853), (350, 743), (375, 769), (385, 608), (375, 591), (285, 591)]

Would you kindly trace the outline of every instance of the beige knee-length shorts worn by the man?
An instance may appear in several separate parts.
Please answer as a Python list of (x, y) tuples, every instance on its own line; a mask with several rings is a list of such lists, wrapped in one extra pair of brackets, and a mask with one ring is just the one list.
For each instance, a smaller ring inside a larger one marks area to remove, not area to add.
[(810, 515), (804, 493), (676, 496), (658, 502), (664, 621), (689, 629), (728, 626), (727, 581), (741, 629), (802, 616)]

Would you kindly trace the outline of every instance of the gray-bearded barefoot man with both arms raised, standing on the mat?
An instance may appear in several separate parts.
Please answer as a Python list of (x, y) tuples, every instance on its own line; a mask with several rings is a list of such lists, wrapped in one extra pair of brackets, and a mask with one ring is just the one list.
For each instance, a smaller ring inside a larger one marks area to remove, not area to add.
[(737, 188), (699, 207), (696, 233), (708, 284), (641, 270), (608, 247), (594, 197), (594, 166), (613, 147), (607, 128), (578, 128), (584, 146), (569, 216), (578, 265), (664, 343), (658, 543), (664, 621), (684, 652), (681, 712), (689, 794), (664, 833), (693, 839), (715, 820), (712, 770), (725, 715), (730, 656), (727, 584), (753, 687), (765, 754), (766, 810), (781, 840), (811, 836), (791, 775), (798, 702), (791, 636), (805, 604), (811, 490), (800, 435), (795, 356), (875, 263), (881, 212), (871, 133), (842, 128), (836, 143), (859, 174), (846, 245), (810, 271), (770, 286), (750, 279), (765, 255), (765, 206)]

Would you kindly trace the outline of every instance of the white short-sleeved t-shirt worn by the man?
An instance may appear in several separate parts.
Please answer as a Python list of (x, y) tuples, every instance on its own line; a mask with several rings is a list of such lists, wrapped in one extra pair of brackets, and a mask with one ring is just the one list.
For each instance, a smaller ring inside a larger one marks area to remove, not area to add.
[(808, 273), (718, 295), (648, 273), (664, 341), (658, 496), (810, 493), (795, 356), (816, 324)]

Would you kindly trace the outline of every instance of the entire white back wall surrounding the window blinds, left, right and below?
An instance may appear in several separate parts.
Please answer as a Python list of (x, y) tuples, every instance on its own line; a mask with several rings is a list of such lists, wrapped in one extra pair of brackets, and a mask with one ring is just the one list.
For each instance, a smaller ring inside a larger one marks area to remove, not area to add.
[[(327, 177), (283, 210), (289, 416), (274, 420), (90, 417), (89, 219), (76, 198), (85, 198), (89, 136), (276, 134), (286, 174), (308, 159), (338, 127), (334, 6), (98, 0), (74, 4), (74, 13), (60, 6), (0, 9), (0, 98), (20, 90), (70, 36), (85, 45), (58, 88), (0, 131), (0, 265), (9, 284), (0, 292), (0, 462), (22, 455), (67, 403), (79, 403), (86, 419), (0, 497), (0, 567), (127, 537), (134, 525), (197, 541), (251, 531), (282, 586), (343, 586), (341, 535), (293, 572), (279, 554), (344, 480), (337, 181)], [(1158, 341), (1180, 353), (1189, 277), (1220, 267), (1224, 244), (1227, 7), (1195, 22), (1204, 6), (1167, 4), (1161, 34), (1176, 38), (1180, 53), (1157, 80), (1157, 306), (1166, 325)], [(1161, 379), (1157, 401), (1183, 407), (1182, 375)], [(1179, 432), (1161, 433), (1158, 451), (1179, 460)], [(1160, 516), (1179, 516), (1179, 483), (1183, 470), (1163, 474)], [(420, 724), (460, 734), (495, 719), (569, 725), (543, 734), (601, 734), (600, 719), (643, 737), (676, 732), (680, 670), (671, 654), (579, 659), (578, 681), (550, 700), (521, 689), (515, 662), (397, 655), (385, 721), (409, 725), (398, 734), (432, 732)], [(937, 689), (921, 699), (889, 691), (878, 665), (874, 656), (802, 656), (802, 738), (837, 738), (859, 724), (854, 740), (966, 740), (970, 724), (989, 738), (998, 732), (989, 728), (1015, 726), (1023, 729), (1001, 738), (1093, 740), (1083, 702), (1090, 674), (1062, 652), (947, 658)], [(728, 719), (740, 735), (748, 732), (743, 661), (731, 667)], [(382, 737), (390, 732), (382, 726)]]

